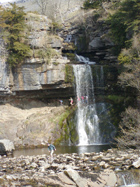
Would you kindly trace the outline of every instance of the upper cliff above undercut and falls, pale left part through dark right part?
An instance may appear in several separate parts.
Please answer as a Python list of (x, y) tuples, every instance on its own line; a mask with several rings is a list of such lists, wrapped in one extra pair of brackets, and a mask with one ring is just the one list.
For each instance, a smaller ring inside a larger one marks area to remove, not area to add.
[[(70, 8), (71, 3), (67, 6)], [(1, 45), (0, 96), (27, 95), (30, 92), (30, 96), (36, 97), (34, 91), (39, 90), (41, 97), (43, 92), (48, 98), (74, 95), (72, 83), (65, 81), (65, 67), (70, 61), (62, 56), (62, 52), (77, 51), (90, 55), (96, 62), (116, 62), (116, 57), (111, 54), (114, 45), (107, 38), (109, 28), (104, 26), (99, 13), (76, 6), (77, 9), (67, 10), (65, 17), (66, 12), (62, 12), (64, 23), (61, 28), (54, 26), (47, 16), (27, 14), (28, 43), (32, 52), (24, 63), (10, 68)], [(0, 42), (2, 44), (2, 40)]]

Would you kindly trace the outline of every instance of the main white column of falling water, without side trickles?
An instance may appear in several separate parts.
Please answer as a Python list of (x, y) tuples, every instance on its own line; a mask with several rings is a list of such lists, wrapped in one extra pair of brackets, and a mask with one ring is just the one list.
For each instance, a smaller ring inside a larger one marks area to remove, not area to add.
[(77, 130), (79, 145), (100, 143), (99, 118), (89, 65), (73, 65), (77, 94)]

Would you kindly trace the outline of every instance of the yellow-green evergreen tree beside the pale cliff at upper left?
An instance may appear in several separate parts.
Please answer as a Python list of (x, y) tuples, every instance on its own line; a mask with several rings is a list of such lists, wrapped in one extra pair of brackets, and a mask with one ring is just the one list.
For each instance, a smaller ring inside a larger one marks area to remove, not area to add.
[(23, 7), (10, 4), (11, 8), (0, 7), (0, 27), (5, 41), (8, 55), (8, 63), (15, 66), (28, 57), (30, 47), (27, 45), (25, 28), (25, 12)]

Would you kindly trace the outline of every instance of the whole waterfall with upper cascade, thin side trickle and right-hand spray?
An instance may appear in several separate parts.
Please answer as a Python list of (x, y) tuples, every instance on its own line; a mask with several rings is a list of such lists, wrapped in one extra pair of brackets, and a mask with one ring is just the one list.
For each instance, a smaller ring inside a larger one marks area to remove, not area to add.
[[(77, 132), (79, 145), (110, 143), (115, 136), (116, 129), (110, 122), (110, 104), (95, 103), (94, 80), (91, 64), (88, 58), (76, 55), (78, 61), (84, 64), (73, 65), (77, 96)], [(94, 65), (95, 62), (92, 64)], [(97, 69), (99, 71), (97, 71)], [(96, 86), (104, 94), (103, 66), (94, 68)]]

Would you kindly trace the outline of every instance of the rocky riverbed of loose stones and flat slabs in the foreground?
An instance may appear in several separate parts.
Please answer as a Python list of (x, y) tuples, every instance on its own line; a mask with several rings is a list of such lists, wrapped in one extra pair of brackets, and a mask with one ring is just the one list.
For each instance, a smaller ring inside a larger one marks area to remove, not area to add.
[(137, 171), (140, 183), (140, 151), (109, 149), (100, 153), (46, 154), (0, 158), (0, 186), (114, 187), (124, 185), (120, 172)]

